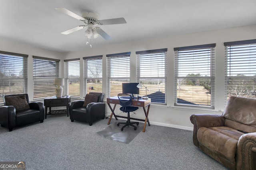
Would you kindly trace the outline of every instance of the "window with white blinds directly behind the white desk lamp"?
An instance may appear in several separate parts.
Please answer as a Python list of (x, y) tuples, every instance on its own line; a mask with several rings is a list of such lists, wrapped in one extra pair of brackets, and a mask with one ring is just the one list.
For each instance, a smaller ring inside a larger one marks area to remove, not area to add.
[(137, 51), (137, 82), (145, 87), (141, 96), (148, 96), (151, 102), (166, 104), (166, 55), (167, 49)]

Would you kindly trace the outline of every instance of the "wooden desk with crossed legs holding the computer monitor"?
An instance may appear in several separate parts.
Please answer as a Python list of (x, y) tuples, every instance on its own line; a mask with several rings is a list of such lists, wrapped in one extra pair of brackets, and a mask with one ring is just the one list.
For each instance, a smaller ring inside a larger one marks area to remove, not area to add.
[[(122, 117), (122, 118), (126, 118), (127, 119), (127, 117), (125, 117), (125, 116), (116, 115), (114, 113), (114, 110), (116, 108), (116, 104), (120, 104), (119, 103), (119, 99), (118, 99), (117, 96), (107, 98), (107, 104), (108, 104), (110, 110), (112, 111), (112, 113), (110, 115), (110, 118), (108, 120), (108, 125), (110, 124), (110, 121), (111, 121), (113, 115), (116, 118), (116, 120), (118, 120), (117, 117)], [(112, 108), (110, 104), (114, 104), (114, 107)], [(149, 113), (149, 109), (150, 109), (150, 104), (151, 104), (151, 99), (148, 99), (148, 100), (133, 99), (132, 100), (132, 106), (142, 107), (143, 110), (144, 110), (144, 113), (145, 113), (145, 116), (146, 116), (145, 119), (136, 119), (136, 118), (130, 117), (130, 119), (133, 119), (133, 120), (144, 121), (143, 132), (145, 132), (145, 130), (146, 130), (147, 122), (148, 122), (148, 125), (150, 126), (149, 119), (148, 119), (148, 113)], [(147, 106), (148, 106), (148, 109), (146, 110)]]

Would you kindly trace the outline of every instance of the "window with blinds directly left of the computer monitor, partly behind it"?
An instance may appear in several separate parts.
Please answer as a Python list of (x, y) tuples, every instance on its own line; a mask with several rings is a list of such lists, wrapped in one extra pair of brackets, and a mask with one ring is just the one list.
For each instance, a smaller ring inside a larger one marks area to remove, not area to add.
[(122, 92), (122, 83), (130, 82), (130, 52), (107, 55), (107, 96)]

